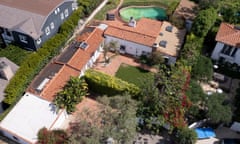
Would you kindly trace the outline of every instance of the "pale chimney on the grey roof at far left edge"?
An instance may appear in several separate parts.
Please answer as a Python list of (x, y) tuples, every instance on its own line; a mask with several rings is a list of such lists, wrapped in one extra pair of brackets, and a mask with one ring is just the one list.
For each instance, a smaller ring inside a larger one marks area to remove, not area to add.
[(13, 71), (4, 61), (0, 62), (0, 77), (10, 80), (13, 76)]

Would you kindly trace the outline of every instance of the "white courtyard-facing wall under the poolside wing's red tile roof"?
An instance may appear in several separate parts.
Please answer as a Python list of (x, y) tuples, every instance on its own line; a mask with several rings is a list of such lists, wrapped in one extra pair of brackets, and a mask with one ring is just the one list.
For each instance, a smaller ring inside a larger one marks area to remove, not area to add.
[(111, 41), (117, 41), (119, 46), (124, 45), (126, 47), (125, 52), (133, 56), (141, 56), (143, 51), (147, 53), (152, 52), (152, 48), (149, 46), (105, 35), (105, 43), (108, 44)]

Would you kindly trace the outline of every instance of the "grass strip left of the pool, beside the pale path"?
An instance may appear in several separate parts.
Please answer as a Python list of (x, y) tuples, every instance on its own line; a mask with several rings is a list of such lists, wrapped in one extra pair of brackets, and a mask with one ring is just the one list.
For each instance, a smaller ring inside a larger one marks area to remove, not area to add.
[(95, 15), (94, 19), (104, 20), (109, 10), (115, 9), (120, 0), (109, 0), (107, 4)]

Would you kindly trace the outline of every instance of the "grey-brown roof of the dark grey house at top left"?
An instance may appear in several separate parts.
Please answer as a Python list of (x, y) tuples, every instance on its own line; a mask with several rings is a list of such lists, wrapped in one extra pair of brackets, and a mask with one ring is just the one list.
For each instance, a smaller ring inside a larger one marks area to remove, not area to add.
[(37, 39), (48, 15), (71, 0), (0, 0), (0, 27)]

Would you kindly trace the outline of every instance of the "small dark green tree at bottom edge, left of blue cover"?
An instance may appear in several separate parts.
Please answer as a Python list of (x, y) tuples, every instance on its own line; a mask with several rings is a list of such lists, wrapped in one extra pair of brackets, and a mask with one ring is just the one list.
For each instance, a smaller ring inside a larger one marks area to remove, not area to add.
[(175, 141), (178, 144), (195, 144), (197, 141), (197, 134), (193, 129), (184, 127), (177, 130)]

